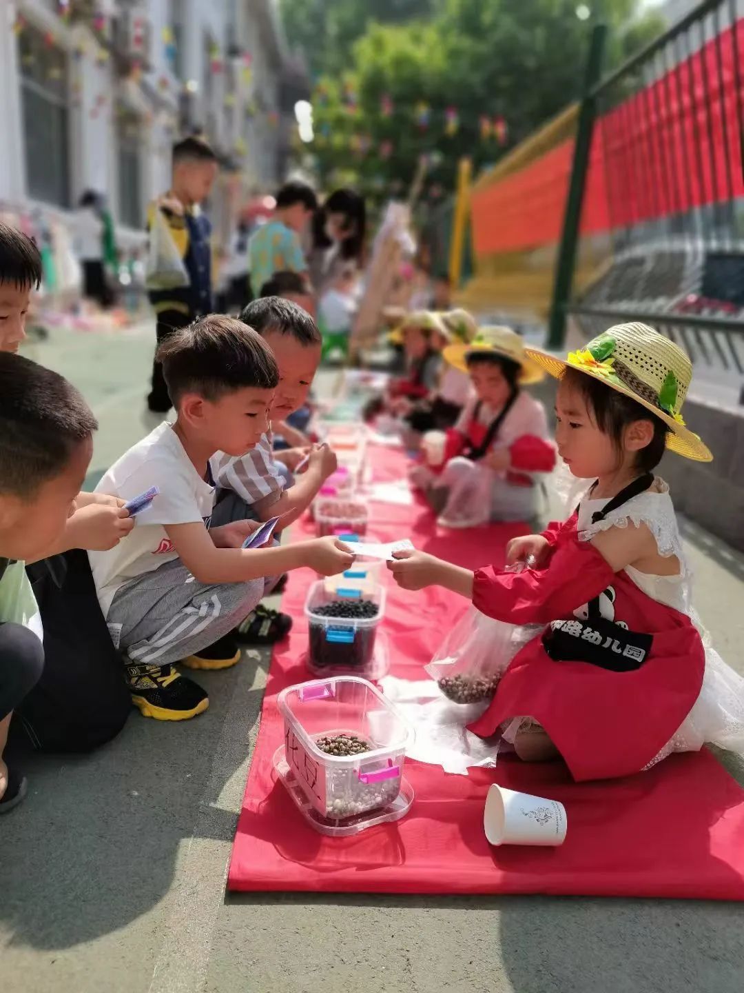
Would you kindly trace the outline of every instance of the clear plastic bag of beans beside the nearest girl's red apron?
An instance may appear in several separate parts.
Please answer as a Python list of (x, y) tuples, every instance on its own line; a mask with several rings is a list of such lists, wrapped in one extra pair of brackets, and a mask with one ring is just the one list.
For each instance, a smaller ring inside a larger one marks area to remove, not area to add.
[(425, 668), (454, 703), (490, 700), (511, 660), (542, 630), (504, 624), (470, 607)]

